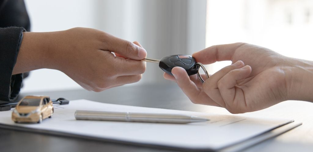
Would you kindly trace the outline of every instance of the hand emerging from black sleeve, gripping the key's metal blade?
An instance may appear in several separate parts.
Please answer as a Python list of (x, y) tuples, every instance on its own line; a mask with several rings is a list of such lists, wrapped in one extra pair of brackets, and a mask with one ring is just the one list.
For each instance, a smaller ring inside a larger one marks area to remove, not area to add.
[(131, 43), (90, 28), (24, 32), (13, 74), (40, 68), (57, 69), (83, 88), (99, 92), (139, 81), (146, 69), (146, 62), (140, 60), (146, 55), (138, 42)]

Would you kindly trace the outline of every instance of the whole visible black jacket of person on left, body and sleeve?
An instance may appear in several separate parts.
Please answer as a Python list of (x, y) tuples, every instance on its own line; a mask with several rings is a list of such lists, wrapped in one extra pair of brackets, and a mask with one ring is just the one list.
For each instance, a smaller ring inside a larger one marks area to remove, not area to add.
[(23, 74), (12, 75), (23, 31), (30, 21), (23, 0), (0, 0), (0, 103), (12, 102), (22, 86)]

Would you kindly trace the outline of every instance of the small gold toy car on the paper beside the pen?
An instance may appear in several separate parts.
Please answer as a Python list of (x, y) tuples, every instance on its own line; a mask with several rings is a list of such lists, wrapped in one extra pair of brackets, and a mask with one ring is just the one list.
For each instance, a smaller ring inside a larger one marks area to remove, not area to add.
[(18, 122), (42, 122), (54, 112), (49, 96), (26, 96), (18, 102), (12, 112), (12, 120)]

